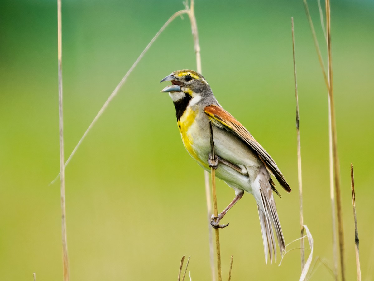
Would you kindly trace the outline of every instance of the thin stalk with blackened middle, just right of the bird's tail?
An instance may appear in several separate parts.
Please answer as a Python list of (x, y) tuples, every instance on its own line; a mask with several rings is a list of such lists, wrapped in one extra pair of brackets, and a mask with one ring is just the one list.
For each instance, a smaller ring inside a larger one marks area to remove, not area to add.
[(305, 247), (304, 247), (304, 217), (303, 217), (303, 184), (301, 179), (301, 147), (300, 147), (300, 116), (299, 116), (299, 98), (297, 94), (296, 60), (295, 60), (295, 35), (294, 18), (291, 18), (292, 30), (292, 54), (294, 58), (294, 79), (295, 79), (295, 98), (296, 98), (296, 131), (297, 131), (297, 172), (299, 183), (299, 201), (300, 201), (300, 255), (301, 270), (305, 266)]

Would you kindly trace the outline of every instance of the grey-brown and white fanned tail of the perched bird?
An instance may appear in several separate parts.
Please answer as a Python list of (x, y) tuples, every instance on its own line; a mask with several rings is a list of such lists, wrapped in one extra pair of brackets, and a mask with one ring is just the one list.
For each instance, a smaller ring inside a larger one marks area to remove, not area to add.
[(257, 197), (258, 216), (260, 217), (261, 233), (264, 242), (265, 262), (267, 263), (269, 253), (271, 264), (273, 262), (273, 252), (275, 261), (277, 255), (273, 228), (278, 239), (278, 245), (282, 256), (286, 251), (286, 247), (272, 189), (269, 184), (263, 184), (264, 181), (260, 180), (259, 183), (260, 196)]

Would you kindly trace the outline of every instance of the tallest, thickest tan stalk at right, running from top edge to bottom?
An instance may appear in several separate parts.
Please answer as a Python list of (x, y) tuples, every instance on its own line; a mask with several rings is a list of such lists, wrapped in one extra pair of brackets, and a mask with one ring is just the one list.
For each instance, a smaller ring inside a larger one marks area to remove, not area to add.
[(332, 87), (332, 58), (331, 58), (331, 14), (330, 1), (326, 0), (326, 34), (327, 34), (327, 58), (328, 58), (328, 84), (330, 97), (330, 113), (331, 113), (331, 133), (332, 133), (332, 158), (334, 163), (334, 182), (335, 182), (335, 197), (338, 218), (338, 234), (339, 234), (339, 252), (340, 252), (340, 271), (341, 280), (345, 281), (345, 267), (344, 267), (344, 232), (343, 232), (343, 215), (341, 214), (341, 194), (340, 194), (340, 164), (337, 148), (337, 132), (335, 121), (335, 107), (334, 95)]

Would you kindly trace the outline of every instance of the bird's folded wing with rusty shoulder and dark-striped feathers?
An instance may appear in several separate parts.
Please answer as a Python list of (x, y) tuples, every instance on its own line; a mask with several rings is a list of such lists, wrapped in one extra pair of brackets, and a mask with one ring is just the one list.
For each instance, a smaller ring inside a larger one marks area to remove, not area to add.
[(278, 169), (277, 164), (272, 157), (266, 152), (266, 150), (258, 143), (255, 138), (248, 132), (245, 127), (239, 123), (229, 112), (217, 105), (208, 105), (204, 109), (208, 117), (213, 121), (218, 121), (224, 126), (226, 130), (232, 132), (234, 135), (242, 139), (251, 149), (258, 154), (258, 157), (263, 161), (266, 168), (272, 173), (282, 187), (287, 191), (291, 192), (286, 179), (282, 175), (282, 172)]

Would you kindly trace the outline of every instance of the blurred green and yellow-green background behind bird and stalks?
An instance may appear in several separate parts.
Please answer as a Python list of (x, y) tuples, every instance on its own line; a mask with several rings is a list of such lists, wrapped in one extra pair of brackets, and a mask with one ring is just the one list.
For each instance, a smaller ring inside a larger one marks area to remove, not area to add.
[[(65, 155), (182, 1), (62, 1)], [(323, 3), (322, 3), (323, 4)], [(62, 279), (57, 3), (0, 4), (1, 280)], [(309, 1), (326, 57), (317, 1)], [(295, 21), (304, 221), (313, 258), (332, 267), (327, 91), (303, 3), (197, 1), (203, 75), (217, 99), (276, 160), (293, 192), (276, 199), (286, 243), (299, 236), (291, 16)], [(374, 278), (374, 4), (332, 1), (332, 55), (347, 280), (356, 275), (355, 166), (363, 280)], [(196, 69), (187, 16), (161, 34), (66, 169), (71, 280), (210, 280), (203, 171), (183, 148), (159, 81)], [(218, 182), (218, 208), (234, 193)], [(298, 280), (300, 251), (265, 265), (257, 207), (244, 196), (221, 233), (224, 279)], [(299, 242), (288, 246), (297, 248)], [(309, 251), (306, 251), (309, 254)], [(366, 278), (366, 279), (365, 279)], [(319, 266), (311, 280), (333, 280)]]

